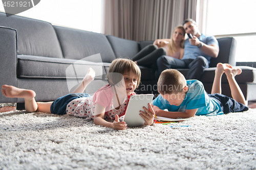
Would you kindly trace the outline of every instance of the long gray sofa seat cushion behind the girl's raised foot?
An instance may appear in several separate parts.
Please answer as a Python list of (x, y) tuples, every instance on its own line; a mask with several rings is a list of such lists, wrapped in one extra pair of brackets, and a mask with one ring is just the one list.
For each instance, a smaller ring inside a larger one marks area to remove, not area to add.
[(101, 63), (22, 55), (18, 56), (17, 77), (30, 79), (83, 79), (89, 67), (92, 67), (96, 72), (95, 79), (102, 79), (102, 75), (105, 75), (105, 70)]

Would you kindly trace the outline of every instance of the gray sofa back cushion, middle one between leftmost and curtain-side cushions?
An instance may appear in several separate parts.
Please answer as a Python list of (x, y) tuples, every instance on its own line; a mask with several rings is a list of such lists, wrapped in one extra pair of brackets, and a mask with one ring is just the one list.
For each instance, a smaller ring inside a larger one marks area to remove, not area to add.
[(100, 54), (101, 59), (88, 59), (94, 62), (111, 62), (116, 59), (111, 45), (105, 35), (54, 26), (63, 57), (80, 60), (91, 55)]

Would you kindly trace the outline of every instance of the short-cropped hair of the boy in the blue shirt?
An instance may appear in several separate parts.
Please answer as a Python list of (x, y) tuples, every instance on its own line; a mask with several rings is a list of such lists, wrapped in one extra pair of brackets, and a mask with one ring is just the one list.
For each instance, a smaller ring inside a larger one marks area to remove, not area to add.
[(157, 82), (160, 94), (177, 94), (187, 85), (185, 77), (176, 69), (164, 70)]

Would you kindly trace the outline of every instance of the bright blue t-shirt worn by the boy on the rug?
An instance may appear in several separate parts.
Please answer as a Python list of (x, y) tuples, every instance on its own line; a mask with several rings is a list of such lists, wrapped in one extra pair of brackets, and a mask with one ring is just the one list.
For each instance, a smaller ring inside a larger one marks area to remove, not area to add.
[(187, 80), (188, 91), (180, 106), (170, 105), (162, 95), (153, 101), (153, 105), (170, 112), (185, 112), (186, 110), (198, 109), (196, 115), (219, 115), (223, 114), (220, 104), (213, 98), (209, 98), (204, 90), (203, 83), (198, 80)]

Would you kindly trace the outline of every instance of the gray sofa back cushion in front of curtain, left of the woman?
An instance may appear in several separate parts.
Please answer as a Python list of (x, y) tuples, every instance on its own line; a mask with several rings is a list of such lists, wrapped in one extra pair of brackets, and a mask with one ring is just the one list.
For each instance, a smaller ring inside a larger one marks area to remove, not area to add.
[(112, 35), (107, 35), (106, 38), (108, 38), (116, 58), (133, 58), (140, 51), (139, 43), (136, 41), (118, 38)]

